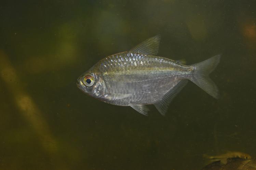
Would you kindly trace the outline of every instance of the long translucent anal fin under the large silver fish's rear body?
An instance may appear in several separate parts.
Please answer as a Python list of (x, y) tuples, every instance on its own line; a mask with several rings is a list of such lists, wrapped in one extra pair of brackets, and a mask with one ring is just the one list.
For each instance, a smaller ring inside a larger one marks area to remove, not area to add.
[(154, 103), (154, 106), (158, 109), (161, 115), (165, 115), (168, 105), (171, 103), (173, 98), (183, 89), (183, 87), (188, 83), (187, 79), (179, 81), (170, 91), (168, 91), (161, 100)]

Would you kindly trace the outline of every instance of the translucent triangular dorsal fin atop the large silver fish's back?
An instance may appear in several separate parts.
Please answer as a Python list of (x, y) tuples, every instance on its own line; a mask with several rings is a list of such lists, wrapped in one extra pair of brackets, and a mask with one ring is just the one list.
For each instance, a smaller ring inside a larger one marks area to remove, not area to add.
[(161, 36), (156, 35), (153, 36), (142, 43), (138, 44), (137, 46), (133, 47), (130, 51), (139, 52), (142, 54), (148, 55), (157, 55), (159, 49)]

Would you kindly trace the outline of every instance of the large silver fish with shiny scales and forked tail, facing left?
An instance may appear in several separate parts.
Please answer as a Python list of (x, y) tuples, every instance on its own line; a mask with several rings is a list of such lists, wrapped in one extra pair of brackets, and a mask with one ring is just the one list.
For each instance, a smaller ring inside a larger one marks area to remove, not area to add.
[(100, 101), (130, 106), (145, 116), (149, 104), (165, 116), (168, 105), (188, 80), (218, 99), (218, 87), (208, 75), (217, 67), (220, 55), (184, 65), (183, 60), (157, 56), (160, 39), (156, 35), (129, 51), (103, 58), (80, 75), (78, 88)]

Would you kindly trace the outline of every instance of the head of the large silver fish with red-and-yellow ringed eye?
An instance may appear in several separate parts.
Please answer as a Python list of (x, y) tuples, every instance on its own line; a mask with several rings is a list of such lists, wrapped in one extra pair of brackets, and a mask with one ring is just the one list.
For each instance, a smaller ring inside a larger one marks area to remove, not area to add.
[(104, 83), (100, 73), (87, 71), (77, 79), (77, 86), (85, 94), (94, 98), (104, 96)]

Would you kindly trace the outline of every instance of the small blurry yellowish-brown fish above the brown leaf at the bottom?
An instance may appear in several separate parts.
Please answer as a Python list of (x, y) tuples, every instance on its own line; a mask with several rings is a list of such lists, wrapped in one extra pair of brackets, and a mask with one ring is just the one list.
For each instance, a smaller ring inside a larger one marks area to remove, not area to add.
[(220, 160), (221, 164), (227, 164), (228, 158), (241, 158), (244, 160), (252, 158), (249, 154), (243, 153), (243, 152), (238, 152), (238, 151), (228, 151), (224, 154), (215, 155), (215, 156), (210, 156), (210, 155), (204, 154), (203, 157), (209, 159), (210, 162), (216, 162), (216, 161)]

